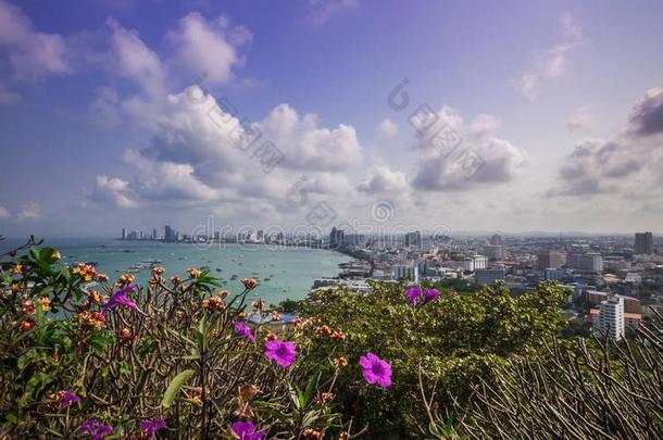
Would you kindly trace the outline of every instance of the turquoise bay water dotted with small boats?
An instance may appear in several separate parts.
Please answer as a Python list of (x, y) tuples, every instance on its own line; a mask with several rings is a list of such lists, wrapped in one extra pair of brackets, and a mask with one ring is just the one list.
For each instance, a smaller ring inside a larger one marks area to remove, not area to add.
[[(14, 239), (0, 241), (0, 253), (18, 243), (20, 240)], [(226, 289), (232, 292), (242, 290), (241, 278), (257, 278), (260, 286), (253, 294), (267, 304), (304, 298), (315, 279), (338, 275), (338, 264), (351, 260), (337, 252), (318, 249), (282, 247), (275, 250), (263, 244), (213, 244), (210, 249), (197, 249), (184, 243), (89, 238), (47, 239), (43, 244), (59, 250), (66, 264), (96, 262), (97, 268), (111, 280), (145, 260), (161, 260), (162, 263), (158, 265), (165, 267), (166, 278), (173, 275), (186, 277), (189, 267), (210, 266), (210, 274), (224, 278)], [(138, 282), (143, 282), (150, 269), (145, 268), (134, 275)], [(230, 280), (232, 275), (238, 278)]]

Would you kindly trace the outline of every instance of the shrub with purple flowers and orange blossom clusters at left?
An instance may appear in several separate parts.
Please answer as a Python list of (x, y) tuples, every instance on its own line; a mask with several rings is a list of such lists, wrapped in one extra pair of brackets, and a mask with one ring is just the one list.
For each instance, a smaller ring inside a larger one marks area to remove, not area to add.
[(347, 438), (335, 369), (300, 361), (312, 342), (246, 320), (258, 281), (232, 294), (205, 271), (168, 279), (155, 267), (139, 287), (63, 265), (51, 248), (7, 256), (0, 429), (11, 438)]

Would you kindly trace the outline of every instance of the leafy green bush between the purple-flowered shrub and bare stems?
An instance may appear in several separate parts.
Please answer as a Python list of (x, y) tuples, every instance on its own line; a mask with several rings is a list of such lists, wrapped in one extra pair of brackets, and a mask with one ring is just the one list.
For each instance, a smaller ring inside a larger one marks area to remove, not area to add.
[(562, 324), (563, 293), (549, 284), (517, 298), (500, 287), (446, 291), (418, 307), (405, 299), (403, 286), (372, 288), (371, 296), (317, 291), (301, 312), (308, 316), (302, 331), (315, 342), (305, 357), (311, 365), (330, 372), (328, 357), (343, 356), (353, 365), (367, 351), (391, 363), (393, 386), (387, 390), (361, 387), (358, 374), (338, 379), (343, 412), (366, 424), (375, 438), (429, 435), (422, 395), (434, 394), (438, 411), (450, 410), (509, 359), (536, 356)]

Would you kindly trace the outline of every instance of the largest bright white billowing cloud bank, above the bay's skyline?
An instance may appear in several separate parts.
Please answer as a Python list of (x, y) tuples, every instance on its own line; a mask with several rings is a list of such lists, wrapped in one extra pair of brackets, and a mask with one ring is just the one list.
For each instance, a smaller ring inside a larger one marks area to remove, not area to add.
[[(126, 152), (136, 176), (117, 189), (130, 191), (141, 206), (268, 203), (275, 212), (288, 210), (286, 194), (300, 173), (305, 175), (303, 190), (313, 198), (354, 190), (347, 173), (361, 160), (362, 149), (353, 127), (321, 126), (316, 115), (300, 116), (287, 104), (262, 121), (240, 124), (223, 111), (232, 105), (198, 86), (168, 96), (163, 109), (150, 116), (157, 123), (150, 126), (149, 143)], [(251, 133), (260, 134), (254, 143), (237, 143)], [(259, 149), (267, 141), (283, 153), (283, 161), (263, 173)]]

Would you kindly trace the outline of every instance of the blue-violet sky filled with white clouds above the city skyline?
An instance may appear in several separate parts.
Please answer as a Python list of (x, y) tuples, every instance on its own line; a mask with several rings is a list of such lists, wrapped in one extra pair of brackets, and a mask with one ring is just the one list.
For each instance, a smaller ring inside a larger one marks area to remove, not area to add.
[(658, 0), (0, 0), (0, 235), (663, 231), (661, 23)]

